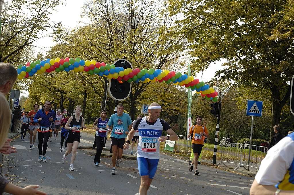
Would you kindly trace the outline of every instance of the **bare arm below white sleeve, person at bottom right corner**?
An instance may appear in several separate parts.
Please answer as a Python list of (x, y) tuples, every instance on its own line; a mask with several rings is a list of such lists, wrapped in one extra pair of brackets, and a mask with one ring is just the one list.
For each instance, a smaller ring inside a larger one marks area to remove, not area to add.
[[(270, 186), (270, 185), (261, 185), (258, 184), (256, 179), (254, 179), (253, 184), (251, 185), (250, 188), (250, 195), (268, 195), (268, 194), (275, 194), (275, 191), (277, 190), (277, 188), (275, 188), (275, 186)], [(294, 191), (286, 191), (286, 190), (282, 190), (280, 191), (279, 195), (290, 195), (293, 194)]]

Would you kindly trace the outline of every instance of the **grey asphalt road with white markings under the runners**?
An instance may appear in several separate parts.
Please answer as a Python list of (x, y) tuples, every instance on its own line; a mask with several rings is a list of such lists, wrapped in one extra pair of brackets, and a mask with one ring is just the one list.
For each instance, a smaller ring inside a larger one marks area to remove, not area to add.
[[(82, 139), (93, 141), (91, 135)], [(18, 153), (8, 156), (9, 179), (19, 186), (40, 185), (40, 190), (54, 195), (77, 194), (136, 194), (140, 185), (137, 161), (121, 159), (116, 175), (111, 175), (111, 159), (101, 157), (99, 167), (93, 164), (94, 157), (78, 150), (74, 163), (75, 172), (69, 171), (71, 154), (66, 164), (61, 164), (59, 141), (48, 143), (47, 163), (37, 162), (38, 148), (29, 150), (29, 139), (14, 140), (12, 145)], [(36, 142), (36, 144), (38, 144)], [(129, 151), (124, 151), (129, 152)], [(213, 167), (199, 165), (198, 176), (189, 172), (188, 163), (176, 157), (161, 155), (156, 175), (148, 194), (249, 194), (252, 177), (226, 172)], [(4, 173), (5, 174), (5, 173)]]

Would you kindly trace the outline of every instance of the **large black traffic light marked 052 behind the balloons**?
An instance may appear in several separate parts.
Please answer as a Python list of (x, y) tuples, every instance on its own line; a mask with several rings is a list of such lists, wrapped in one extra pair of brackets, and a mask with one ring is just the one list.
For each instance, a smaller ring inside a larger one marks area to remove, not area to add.
[[(114, 62), (116, 67), (123, 67), (123, 69), (132, 68), (132, 64), (125, 59), (118, 59)], [(113, 100), (125, 100), (131, 93), (131, 83), (121, 82), (116, 79), (111, 79), (109, 83), (108, 93)]]

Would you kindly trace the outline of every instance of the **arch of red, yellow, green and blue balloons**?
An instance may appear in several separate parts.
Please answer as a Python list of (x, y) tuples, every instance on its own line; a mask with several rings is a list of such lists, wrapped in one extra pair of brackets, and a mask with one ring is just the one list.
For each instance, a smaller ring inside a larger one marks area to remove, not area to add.
[(115, 67), (113, 64), (106, 64), (104, 62), (96, 62), (95, 60), (82, 60), (81, 58), (55, 58), (46, 60), (36, 60), (35, 62), (28, 62), (26, 65), (19, 65), (17, 68), (17, 73), (19, 80), (23, 78), (28, 78), (34, 74), (50, 73), (52, 71), (59, 73), (60, 71), (69, 72), (73, 70), (74, 72), (88, 72), (90, 75), (96, 74), (100, 76), (105, 76), (109, 79), (117, 79), (121, 82), (135, 82), (138, 83), (142, 81), (143, 83), (151, 82), (159, 83), (165, 82), (166, 84), (173, 83), (173, 85), (185, 86), (190, 88), (196, 93), (201, 94), (202, 97), (206, 97), (207, 100), (212, 100), (216, 102), (218, 93), (209, 85), (204, 82), (199, 82), (199, 80), (193, 76), (188, 76), (180, 72), (176, 73), (169, 70), (161, 70), (153, 68), (147, 70), (139, 68), (127, 68)]

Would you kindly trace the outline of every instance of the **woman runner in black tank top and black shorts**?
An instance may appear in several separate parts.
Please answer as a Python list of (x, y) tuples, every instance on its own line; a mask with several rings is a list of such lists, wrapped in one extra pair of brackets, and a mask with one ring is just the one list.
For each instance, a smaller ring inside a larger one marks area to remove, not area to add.
[(69, 133), (66, 137), (67, 150), (61, 159), (61, 162), (64, 164), (66, 156), (72, 152), (71, 155), (71, 165), (69, 166), (70, 171), (74, 171), (74, 160), (76, 159), (76, 151), (78, 149), (78, 144), (81, 140), (80, 129), (86, 129), (84, 118), (80, 116), (81, 106), (76, 106), (76, 113), (69, 117), (69, 120), (66, 122), (65, 129), (69, 130)]

